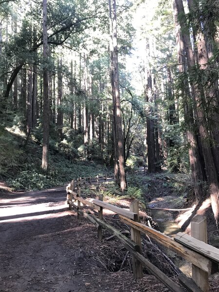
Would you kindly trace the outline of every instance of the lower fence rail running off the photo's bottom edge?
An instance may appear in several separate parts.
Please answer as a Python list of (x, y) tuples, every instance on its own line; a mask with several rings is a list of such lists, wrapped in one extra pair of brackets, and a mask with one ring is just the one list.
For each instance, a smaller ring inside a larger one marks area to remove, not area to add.
[(173, 282), (170, 278), (167, 277), (161, 270), (159, 270), (156, 266), (154, 266), (149, 260), (147, 260), (144, 256), (139, 254), (136, 251), (133, 251), (130, 247), (126, 246), (128, 251), (135, 256), (145, 267), (146, 269), (153, 274), (158, 280), (160, 280), (164, 285), (172, 292), (184, 292), (179, 285)]

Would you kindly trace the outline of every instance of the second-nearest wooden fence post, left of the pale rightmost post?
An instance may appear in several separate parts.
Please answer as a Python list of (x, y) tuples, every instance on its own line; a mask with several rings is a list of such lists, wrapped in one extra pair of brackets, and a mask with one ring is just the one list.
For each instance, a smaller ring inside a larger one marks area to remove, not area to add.
[[(130, 206), (129, 210), (131, 212), (138, 214), (138, 222), (139, 220), (139, 201), (133, 201)], [(141, 233), (140, 231), (136, 230), (135, 228), (131, 227), (131, 239), (139, 246), (139, 253), (142, 252), (142, 242), (141, 242)], [(142, 271), (142, 264), (139, 260), (137, 260), (134, 256), (132, 256), (132, 269), (135, 279), (140, 279), (143, 277)]]

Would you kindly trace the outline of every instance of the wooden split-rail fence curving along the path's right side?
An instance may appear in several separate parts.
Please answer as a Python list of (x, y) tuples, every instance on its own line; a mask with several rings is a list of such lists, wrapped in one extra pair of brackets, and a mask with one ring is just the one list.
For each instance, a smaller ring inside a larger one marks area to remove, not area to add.
[[(143, 266), (145, 266), (146, 269), (163, 282), (170, 291), (184, 291), (177, 283), (142, 256), (141, 233), (144, 233), (192, 263), (192, 279), (188, 278), (183, 273), (178, 275), (179, 282), (187, 291), (208, 292), (210, 289), (209, 275), (219, 270), (219, 249), (207, 244), (206, 218), (201, 215), (196, 215), (192, 219), (191, 236), (179, 232), (172, 238), (140, 223), (138, 200), (133, 201), (128, 210), (104, 202), (103, 195), (100, 195), (98, 200), (81, 198), (82, 186), (87, 187), (91, 184), (108, 182), (112, 179), (112, 177), (108, 178), (106, 175), (73, 180), (66, 188), (69, 209), (72, 210), (73, 208), (77, 213), (78, 219), (81, 217), (89, 219), (97, 227), (97, 236), (99, 240), (102, 240), (102, 228), (105, 228), (122, 241), (123, 245), (132, 255), (132, 270), (136, 279), (143, 277)], [(98, 216), (93, 216), (82, 210), (81, 203), (97, 210)], [(103, 209), (108, 209), (118, 214), (119, 219), (130, 226), (131, 239), (126, 237), (115, 227), (103, 221)]]

